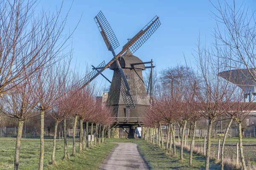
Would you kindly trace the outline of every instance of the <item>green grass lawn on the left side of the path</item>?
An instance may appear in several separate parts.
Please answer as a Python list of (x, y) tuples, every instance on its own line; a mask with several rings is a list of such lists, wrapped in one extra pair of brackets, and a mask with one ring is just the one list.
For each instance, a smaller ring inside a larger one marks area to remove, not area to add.
[[(114, 143), (100, 144), (83, 151), (76, 153), (76, 156), (69, 156), (69, 160), (61, 159), (64, 155), (64, 139), (61, 142), (57, 139), (55, 160), (56, 165), (50, 165), (52, 155), (53, 139), (45, 139), (44, 145), (44, 169), (45, 170), (97, 170), (99, 165), (110, 153)], [(67, 152), (71, 155), (73, 140), (67, 140)], [(0, 170), (11, 170), (14, 168), (16, 138), (0, 138)], [(76, 142), (76, 150), (78, 151)], [(20, 169), (35, 170), (38, 169), (40, 154), (40, 139), (22, 139), (20, 148)]]

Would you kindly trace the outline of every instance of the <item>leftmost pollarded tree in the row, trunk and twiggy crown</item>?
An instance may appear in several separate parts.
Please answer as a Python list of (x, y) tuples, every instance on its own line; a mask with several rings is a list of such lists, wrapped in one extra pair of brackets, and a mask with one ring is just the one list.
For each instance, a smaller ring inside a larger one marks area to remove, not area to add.
[[(33, 111), (35, 105), (38, 104), (38, 99), (35, 96), (35, 84), (38, 81), (37, 77), (26, 76), (18, 85), (13, 85), (14, 88), (9, 90), (9, 94), (4, 94), (3, 107), (1, 111), (7, 116), (18, 119), (17, 139), (15, 147), (14, 169), (19, 170), (19, 155), (22, 129), (25, 120), (34, 118), (40, 113)], [(16, 82), (13, 82), (16, 83)]]

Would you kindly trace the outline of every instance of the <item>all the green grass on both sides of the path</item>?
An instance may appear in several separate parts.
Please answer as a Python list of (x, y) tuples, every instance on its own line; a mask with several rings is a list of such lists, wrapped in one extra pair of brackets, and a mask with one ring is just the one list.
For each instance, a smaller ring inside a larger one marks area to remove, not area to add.
[[(52, 154), (52, 140), (45, 139), (45, 156), (44, 156), (44, 169), (45, 170), (97, 170), (99, 165), (110, 153), (113, 147), (116, 146), (115, 142), (132, 142), (138, 144), (138, 149), (152, 169), (180, 169), (192, 170), (204, 168), (203, 156), (198, 154), (193, 155), (193, 165), (188, 165), (189, 152), (184, 150), (184, 160), (179, 160), (180, 151), (177, 149), (177, 156), (166, 154), (165, 150), (156, 147), (143, 139), (106, 139), (106, 144), (100, 144), (83, 151), (83, 153), (76, 153), (76, 156), (69, 156), (69, 160), (63, 160), (63, 139), (61, 142), (57, 140), (55, 159), (57, 164), (51, 165)], [(191, 139), (189, 139), (190, 141)], [(13, 169), (14, 153), (15, 153), (16, 138), (0, 138), (0, 170)], [(201, 147), (204, 139), (196, 139), (195, 146)], [(225, 147), (225, 155), (232, 157), (236, 155), (237, 138), (227, 139)], [(78, 150), (78, 141), (76, 142), (76, 149)], [(212, 139), (211, 153), (217, 155), (218, 139)], [(247, 161), (251, 164), (256, 162), (256, 139), (243, 139), (244, 153)], [(38, 169), (39, 153), (40, 153), (40, 139), (22, 139), (20, 149), (20, 169), (34, 170)], [(67, 151), (72, 153), (72, 139), (68, 139)], [(219, 164), (210, 161), (210, 169), (220, 169)]]

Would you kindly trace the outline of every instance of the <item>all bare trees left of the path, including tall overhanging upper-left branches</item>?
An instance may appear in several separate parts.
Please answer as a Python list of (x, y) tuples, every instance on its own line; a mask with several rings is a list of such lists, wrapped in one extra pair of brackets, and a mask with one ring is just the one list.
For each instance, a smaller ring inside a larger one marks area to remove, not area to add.
[[(55, 163), (55, 147), (58, 123), (64, 124), (64, 158), (67, 159), (66, 119), (79, 119), (79, 152), (88, 146), (88, 122), (96, 124), (96, 132), (104, 142), (106, 126), (111, 124), (111, 108), (96, 101), (94, 86), (77, 87), (81, 76), (70, 70), (72, 51), (64, 54), (70, 35), (62, 32), (67, 15), (61, 17), (61, 8), (50, 14), (35, 14), (37, 1), (0, 0), (0, 96), (1, 112), (18, 120), (14, 169), (19, 169), (20, 143), (23, 124), (40, 116), (39, 170), (44, 168), (44, 118), (55, 119), (52, 161)], [(47, 117), (46, 116), (46, 117)], [(87, 122), (86, 134), (83, 123)], [(101, 128), (103, 127), (103, 128)], [(91, 134), (92, 136), (92, 134)], [(73, 155), (76, 153), (73, 135)], [(92, 142), (92, 139), (91, 139)], [(92, 143), (91, 143), (92, 144)]]

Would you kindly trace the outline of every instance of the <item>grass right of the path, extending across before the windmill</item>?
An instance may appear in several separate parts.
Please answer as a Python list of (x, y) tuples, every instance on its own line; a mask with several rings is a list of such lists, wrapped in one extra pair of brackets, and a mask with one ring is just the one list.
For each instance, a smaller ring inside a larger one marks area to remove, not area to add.
[[(132, 142), (138, 144), (138, 149), (148, 163), (148, 166), (152, 170), (167, 170), (167, 169), (179, 169), (179, 170), (194, 170), (203, 169), (205, 164), (205, 158), (199, 155), (193, 155), (192, 166), (189, 166), (189, 152), (184, 150), (184, 160), (180, 161), (180, 150), (177, 149), (177, 156), (172, 154), (166, 154), (165, 150), (156, 147), (155, 145), (145, 142), (143, 139), (106, 139), (107, 142)], [(220, 166), (210, 161), (211, 170), (219, 170)]]

